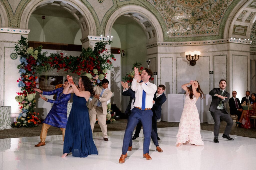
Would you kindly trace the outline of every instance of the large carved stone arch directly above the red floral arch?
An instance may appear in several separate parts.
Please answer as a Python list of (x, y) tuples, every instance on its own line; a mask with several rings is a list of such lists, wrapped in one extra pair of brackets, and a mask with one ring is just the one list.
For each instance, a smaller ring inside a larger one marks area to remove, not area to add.
[(49, 1), (49, 0), (35, 0), (30, 1), (27, 6), (24, 8), (21, 20), (20, 28), (28, 29), (28, 21), (34, 10), (46, 5), (56, 5), (66, 9), (70, 12), (74, 18), (80, 24), (82, 31), (82, 38), (87, 37), (88, 35), (97, 34), (97, 26), (95, 20), (90, 12), (90, 10), (79, 0), (58, 0), (58, 1)]

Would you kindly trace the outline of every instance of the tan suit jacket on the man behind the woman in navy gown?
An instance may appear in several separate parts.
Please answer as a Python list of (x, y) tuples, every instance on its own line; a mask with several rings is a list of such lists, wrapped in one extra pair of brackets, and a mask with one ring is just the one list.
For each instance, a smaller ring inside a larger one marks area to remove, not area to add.
[[(93, 88), (95, 90), (95, 94), (100, 94), (102, 91), (102, 86), (96, 86)], [(102, 111), (103, 114), (107, 114), (107, 101), (110, 100), (110, 98), (112, 97), (112, 92), (110, 91), (110, 89), (106, 89), (103, 94), (102, 97), (100, 98), (100, 102), (102, 104)], [(88, 105), (89, 109), (92, 109), (93, 104), (95, 103), (95, 101), (98, 100), (97, 98), (93, 97), (93, 99), (91, 100), (91, 102)]]

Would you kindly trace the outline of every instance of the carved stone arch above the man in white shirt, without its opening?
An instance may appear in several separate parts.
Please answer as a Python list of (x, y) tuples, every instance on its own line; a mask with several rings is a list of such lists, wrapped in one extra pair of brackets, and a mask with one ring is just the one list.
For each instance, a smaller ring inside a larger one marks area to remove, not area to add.
[(114, 11), (106, 23), (105, 36), (111, 35), (111, 28), (115, 20), (120, 16), (132, 17), (137, 21), (144, 29), (147, 43), (164, 41), (163, 30), (157, 18), (146, 8), (137, 5), (125, 5)]

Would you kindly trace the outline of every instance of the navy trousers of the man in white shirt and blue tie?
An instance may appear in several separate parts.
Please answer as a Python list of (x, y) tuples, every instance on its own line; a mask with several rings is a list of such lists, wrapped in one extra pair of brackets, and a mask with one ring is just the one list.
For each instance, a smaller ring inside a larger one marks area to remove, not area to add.
[(124, 133), (122, 154), (126, 154), (131, 136), (135, 126), (141, 121), (143, 126), (144, 142), (143, 142), (143, 154), (149, 152), (150, 137), (152, 133), (152, 110), (142, 111), (138, 108), (133, 108), (132, 113), (128, 118), (127, 126)]

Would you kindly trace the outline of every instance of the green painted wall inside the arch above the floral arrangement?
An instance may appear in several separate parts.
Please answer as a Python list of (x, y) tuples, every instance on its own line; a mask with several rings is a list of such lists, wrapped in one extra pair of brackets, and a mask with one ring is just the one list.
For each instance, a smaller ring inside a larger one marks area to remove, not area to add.
[(82, 33), (75, 19), (32, 14), (29, 18), (29, 41), (79, 44)]

